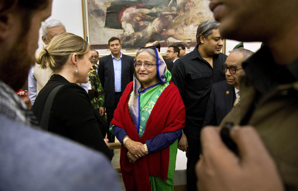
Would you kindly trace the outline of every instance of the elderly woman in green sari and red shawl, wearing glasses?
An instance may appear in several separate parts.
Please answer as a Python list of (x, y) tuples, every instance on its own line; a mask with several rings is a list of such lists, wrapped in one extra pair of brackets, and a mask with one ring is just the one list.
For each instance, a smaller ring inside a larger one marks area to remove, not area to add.
[(121, 96), (110, 126), (122, 144), (124, 185), (126, 190), (173, 190), (184, 104), (155, 47), (142, 47), (134, 66), (133, 82)]

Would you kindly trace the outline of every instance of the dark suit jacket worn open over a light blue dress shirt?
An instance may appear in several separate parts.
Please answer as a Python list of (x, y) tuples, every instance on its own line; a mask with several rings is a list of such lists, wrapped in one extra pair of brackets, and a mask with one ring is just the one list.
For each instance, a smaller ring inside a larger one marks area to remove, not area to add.
[[(121, 94), (127, 84), (133, 81), (134, 59), (132, 56), (122, 54), (121, 58)], [(112, 55), (103, 56), (99, 59), (98, 77), (105, 92), (105, 105), (113, 107), (115, 100), (115, 75)]]

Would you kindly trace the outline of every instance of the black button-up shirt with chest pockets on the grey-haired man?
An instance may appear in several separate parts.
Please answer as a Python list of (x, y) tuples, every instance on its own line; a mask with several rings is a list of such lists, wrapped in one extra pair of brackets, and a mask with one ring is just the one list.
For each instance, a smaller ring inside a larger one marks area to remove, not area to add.
[(185, 127), (183, 132), (199, 139), (205, 118), (211, 86), (214, 82), (225, 80), (224, 64), (227, 55), (220, 53), (213, 56), (213, 69), (195, 49), (176, 60), (173, 70), (173, 82), (178, 87), (185, 105)]

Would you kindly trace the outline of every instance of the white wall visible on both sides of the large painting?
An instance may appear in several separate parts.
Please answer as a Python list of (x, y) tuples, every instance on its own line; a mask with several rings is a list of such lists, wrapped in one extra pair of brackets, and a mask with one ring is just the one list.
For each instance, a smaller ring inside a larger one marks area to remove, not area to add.
[[(52, 16), (50, 16), (49, 19), (51, 18), (60, 20), (65, 25), (67, 32), (74, 33), (84, 38), (82, 0), (53, 0)], [(40, 29), (38, 41), (39, 49), (43, 46), (41, 36), (42, 32)], [(240, 42), (227, 39), (226, 55), (229, 55), (228, 51), (232, 50), (238, 43)], [(260, 46), (261, 42), (244, 42), (244, 48), (254, 52), (259, 50)]]

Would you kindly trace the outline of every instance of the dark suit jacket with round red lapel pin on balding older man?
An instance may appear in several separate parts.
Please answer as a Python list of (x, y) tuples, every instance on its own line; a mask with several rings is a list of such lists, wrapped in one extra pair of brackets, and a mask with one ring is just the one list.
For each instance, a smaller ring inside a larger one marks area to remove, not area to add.
[[(229, 92), (228, 94), (227, 91)], [(218, 126), (231, 111), (235, 99), (235, 88), (229, 85), (227, 80), (214, 83), (211, 88), (202, 127), (206, 125)]]

